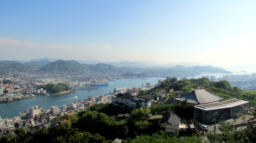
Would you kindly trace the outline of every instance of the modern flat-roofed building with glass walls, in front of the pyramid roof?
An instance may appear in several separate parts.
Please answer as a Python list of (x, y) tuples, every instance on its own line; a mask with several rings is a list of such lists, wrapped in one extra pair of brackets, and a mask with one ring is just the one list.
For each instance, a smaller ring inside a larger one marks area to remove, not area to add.
[(230, 99), (222, 102), (194, 106), (194, 119), (203, 124), (212, 124), (213, 119), (229, 120), (242, 115), (249, 101)]

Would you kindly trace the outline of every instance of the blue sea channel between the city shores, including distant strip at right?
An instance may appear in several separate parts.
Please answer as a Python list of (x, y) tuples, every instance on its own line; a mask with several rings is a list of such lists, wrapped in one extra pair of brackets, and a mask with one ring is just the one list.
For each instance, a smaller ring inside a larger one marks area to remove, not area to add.
[[(232, 74), (251, 74), (251, 72), (236, 72)], [(223, 77), (227, 74), (223, 73), (203, 73), (200, 75), (196, 75), (193, 77), (186, 77), (188, 79), (190, 78), (201, 78), (202, 76), (215, 76), (216, 78)], [(177, 77), (178, 80), (183, 77)], [(33, 107), (37, 105), (38, 107), (49, 109), (51, 106), (61, 106), (61, 105), (67, 105), (68, 103), (87, 99), (88, 96), (97, 97), (101, 96), (102, 94), (109, 94), (110, 92), (114, 91), (114, 88), (120, 88), (120, 87), (127, 87), (133, 88), (133, 87), (141, 87), (142, 83), (146, 84), (147, 82), (150, 82), (151, 85), (154, 85), (158, 83), (158, 80), (164, 80), (166, 77), (149, 77), (149, 78), (133, 78), (133, 79), (117, 79), (115, 81), (109, 81), (109, 85), (101, 86), (99, 89), (91, 89), (91, 90), (76, 90), (75, 92), (70, 92), (66, 94), (61, 95), (51, 95), (51, 96), (45, 96), (45, 95), (36, 95), (36, 97), (33, 98), (27, 98), (23, 100), (16, 100), (13, 102), (6, 102), (6, 103), (0, 103), (0, 116), (2, 119), (5, 118), (13, 118), (15, 116), (18, 116), (19, 112), (25, 112), (25, 109), (29, 107)], [(77, 98), (74, 98), (77, 96)]]

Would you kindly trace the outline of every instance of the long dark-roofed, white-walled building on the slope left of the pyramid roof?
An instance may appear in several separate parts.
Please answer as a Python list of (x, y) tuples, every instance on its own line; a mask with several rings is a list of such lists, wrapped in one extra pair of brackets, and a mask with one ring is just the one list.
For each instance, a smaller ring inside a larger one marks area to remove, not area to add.
[(119, 93), (116, 97), (112, 97), (112, 104), (122, 106), (122, 107), (130, 107), (132, 109), (142, 108), (142, 107), (150, 107), (151, 101), (153, 101), (152, 96), (140, 96), (136, 97), (130, 95), (129, 93)]

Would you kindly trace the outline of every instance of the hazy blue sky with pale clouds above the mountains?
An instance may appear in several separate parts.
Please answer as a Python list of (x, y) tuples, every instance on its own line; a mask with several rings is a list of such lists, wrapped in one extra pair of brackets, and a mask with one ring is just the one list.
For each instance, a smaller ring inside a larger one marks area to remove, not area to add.
[(1, 1), (1, 60), (256, 64), (256, 1)]

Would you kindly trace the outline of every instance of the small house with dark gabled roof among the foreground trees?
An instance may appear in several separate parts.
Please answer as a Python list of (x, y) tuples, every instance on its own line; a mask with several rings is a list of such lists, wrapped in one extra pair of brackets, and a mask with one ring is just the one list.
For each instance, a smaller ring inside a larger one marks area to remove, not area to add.
[(179, 135), (179, 129), (181, 122), (184, 121), (183, 117), (178, 116), (175, 113), (164, 116), (158, 123), (160, 127), (164, 128), (166, 132), (174, 135)]

